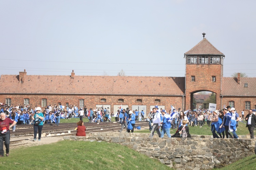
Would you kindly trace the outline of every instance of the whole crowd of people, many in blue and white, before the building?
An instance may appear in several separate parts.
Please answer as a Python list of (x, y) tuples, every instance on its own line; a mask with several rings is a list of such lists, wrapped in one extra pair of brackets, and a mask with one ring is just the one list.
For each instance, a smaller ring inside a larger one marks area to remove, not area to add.
[[(179, 108), (166, 110), (158, 108), (156, 105), (147, 118), (144, 118), (143, 110), (131, 111), (128, 107), (126, 109), (118, 108), (116, 114), (110, 112), (109, 107), (104, 108), (96, 107), (94, 109), (78, 108), (76, 105), (70, 105), (64, 108), (61, 103), (56, 106), (48, 105), (43, 111), (41, 107), (31, 105), (6, 105), (1, 103), (0, 110), (0, 157), (4, 155), (3, 141), (6, 147), (6, 156), (9, 156), (9, 143), (10, 143), (10, 129), (15, 132), (17, 124), (33, 124), (34, 125), (34, 139), (41, 140), (41, 133), (44, 123), (55, 123), (57, 126), (60, 119), (71, 119), (72, 117), (79, 117), (80, 121), (77, 123), (77, 136), (85, 136), (86, 128), (83, 123), (83, 118), (88, 118), (89, 122), (109, 122), (111, 117), (115, 117), (115, 121), (120, 122), (122, 125), (119, 132), (125, 128), (126, 132), (133, 133), (136, 121), (147, 121), (149, 123), (150, 137), (154, 136), (156, 131), (158, 137), (190, 137), (189, 125), (191, 127), (211, 126), (213, 138), (235, 138), (239, 139), (236, 134), (238, 122), (243, 122), (244, 111), (242, 116), (239, 117), (234, 107), (227, 106), (223, 110), (215, 110), (210, 112), (208, 109), (197, 109), (195, 111), (182, 111)], [(139, 118), (139, 119), (138, 119)], [(246, 127), (250, 132), (250, 136), (254, 139), (254, 128), (256, 123), (256, 115), (252, 109), (249, 110), (248, 115), (245, 117)], [(170, 129), (177, 129), (176, 133), (171, 136)], [(231, 133), (230, 133), (231, 132)]]

